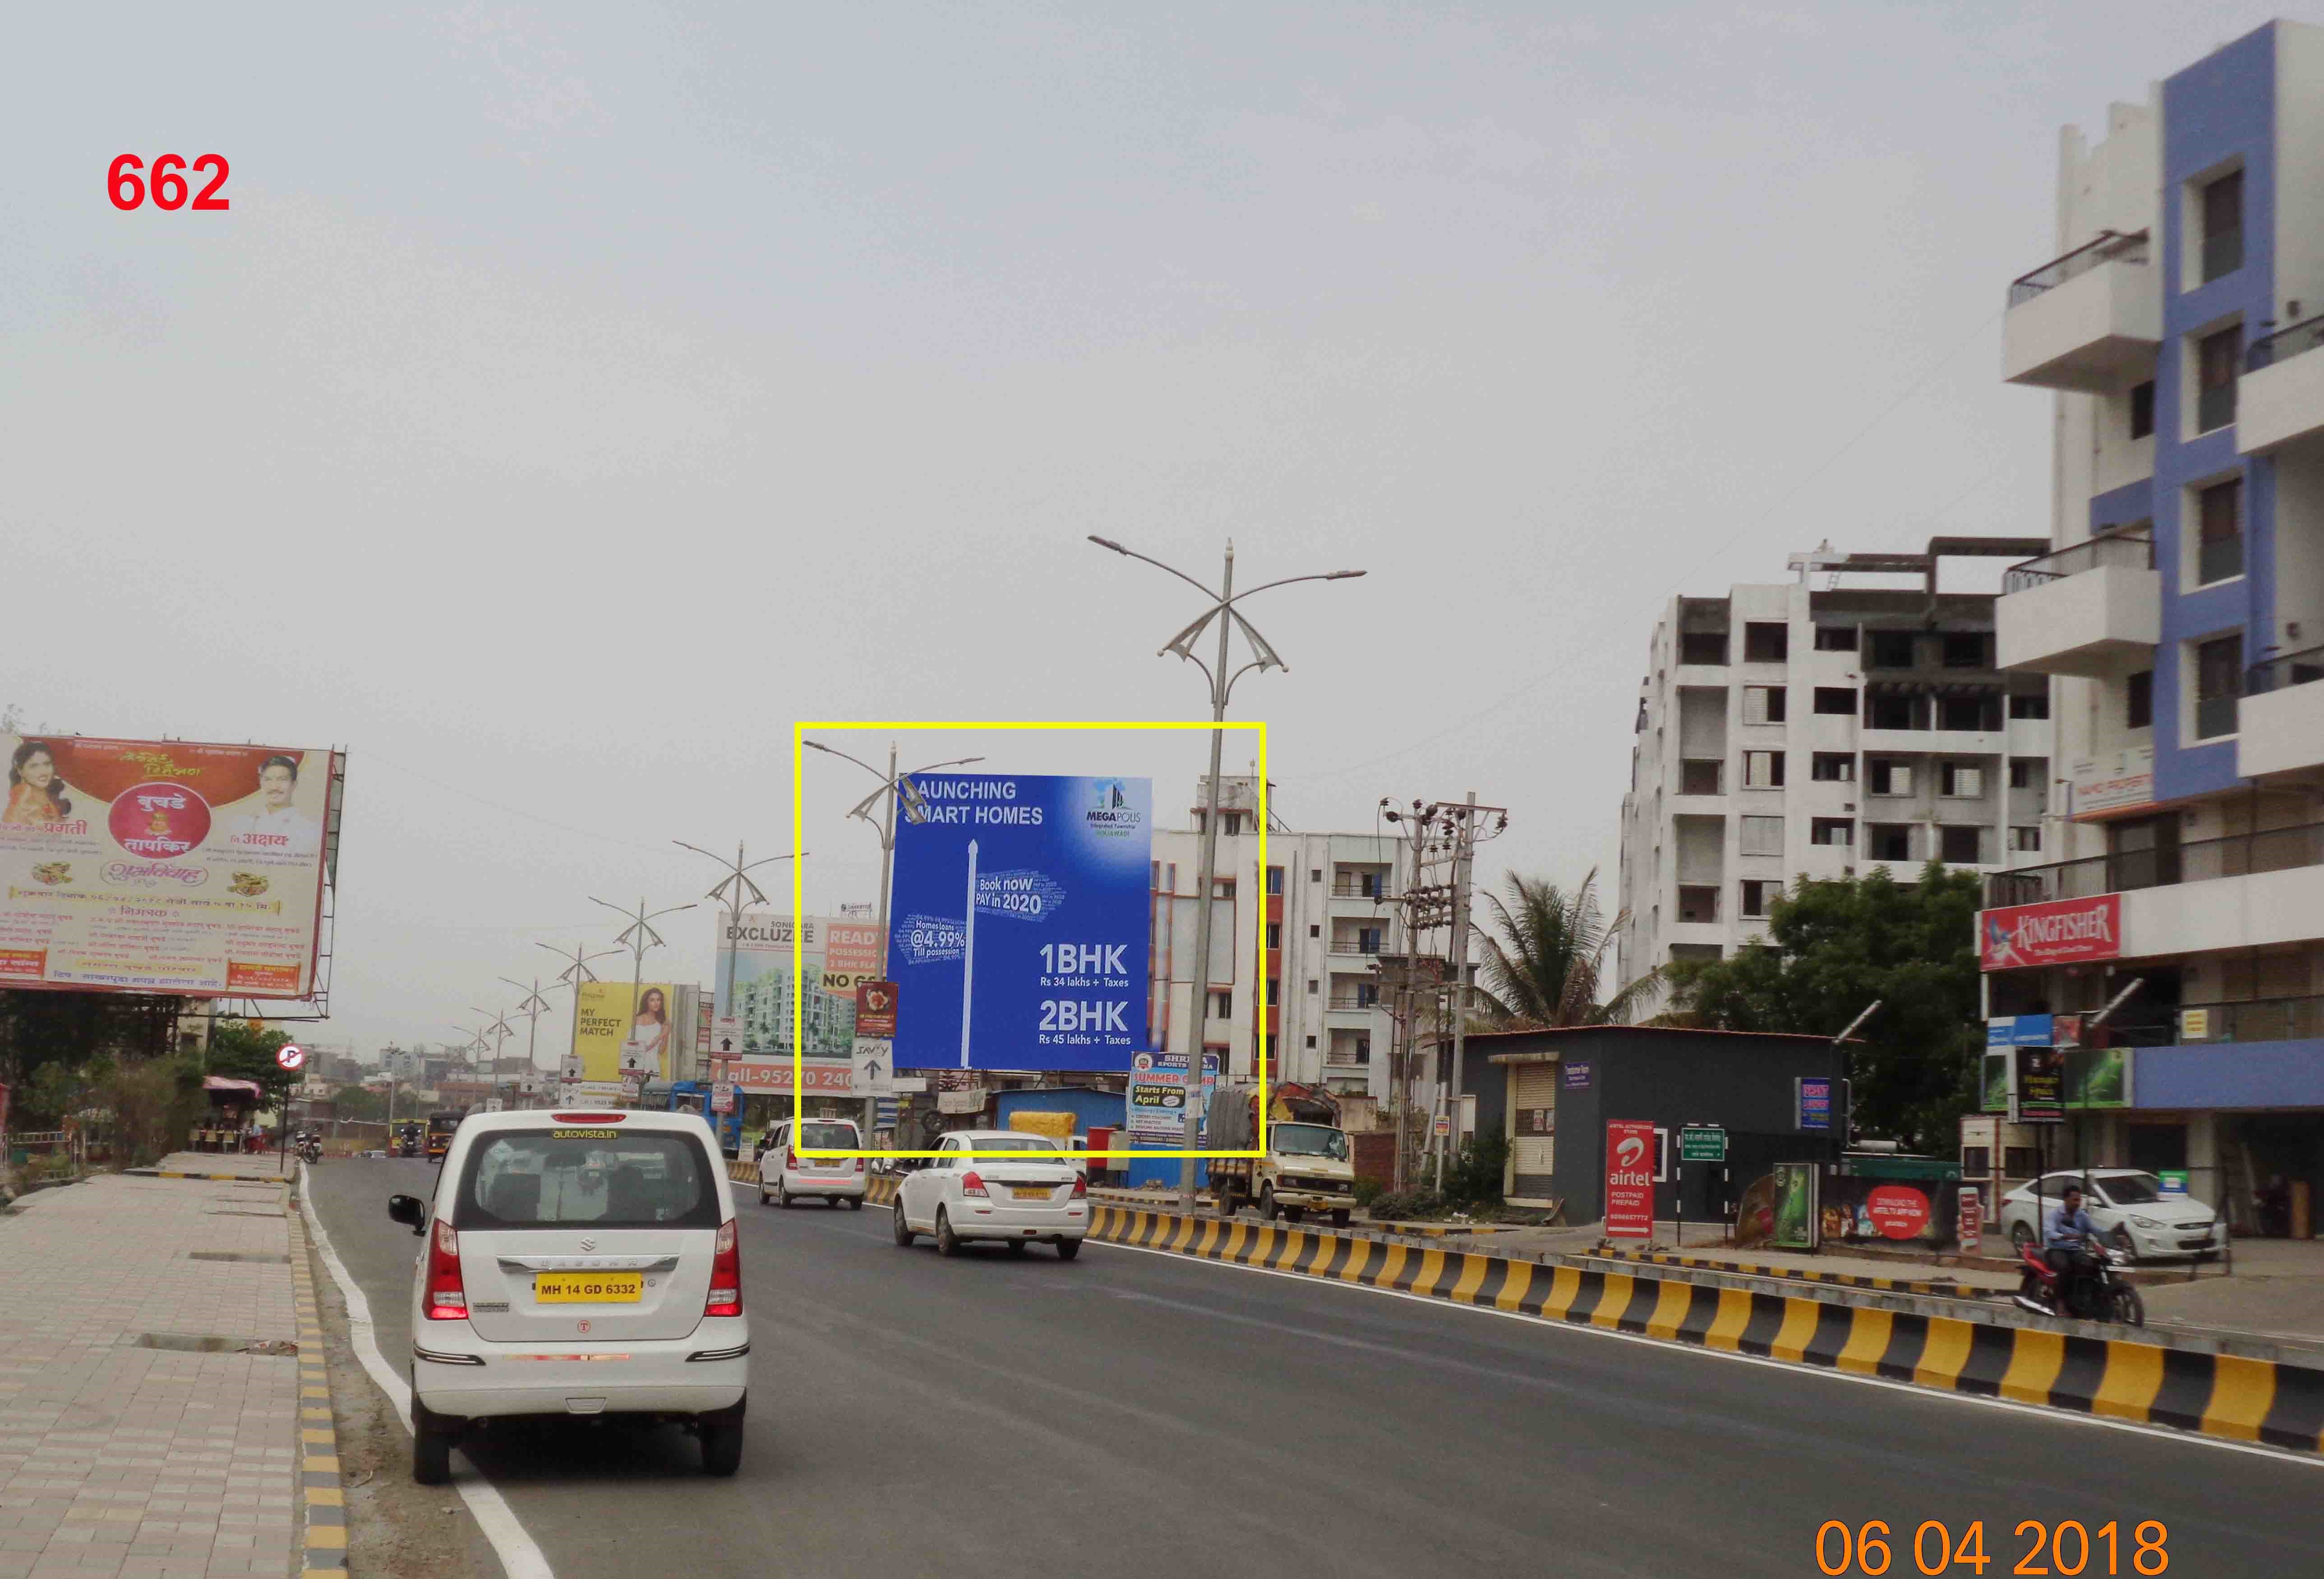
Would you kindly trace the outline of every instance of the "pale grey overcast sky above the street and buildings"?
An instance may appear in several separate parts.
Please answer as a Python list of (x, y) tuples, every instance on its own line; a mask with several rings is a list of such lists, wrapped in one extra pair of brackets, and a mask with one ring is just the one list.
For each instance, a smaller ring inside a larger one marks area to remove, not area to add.
[[(786, 848), (797, 718), (1202, 715), (1195, 594), (1083, 536), (1232, 536), (1371, 571), (1250, 606), (1294, 827), (1476, 790), (1490, 875), (1611, 889), (1671, 592), (2047, 532), (1996, 367), (2057, 128), (2268, 14), (23, 9), (0, 704), (344, 745), (318, 1040), (458, 1040), (590, 894), (697, 899), (672, 838)], [(123, 151), (232, 209), (114, 211)], [(1202, 750), (962, 738), (904, 750), (1171, 822)], [(813, 910), (871, 899), (869, 785), (809, 764)], [(709, 980), (709, 908), (667, 936)]]

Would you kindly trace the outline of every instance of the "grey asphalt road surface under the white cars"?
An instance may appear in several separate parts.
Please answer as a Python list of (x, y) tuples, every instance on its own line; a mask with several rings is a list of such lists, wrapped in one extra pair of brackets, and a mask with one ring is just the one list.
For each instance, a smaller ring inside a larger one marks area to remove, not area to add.
[[(386, 1198), (432, 1175), (314, 1173), (397, 1370), (416, 1240)], [(2173, 1577), (2324, 1572), (2324, 1470), (2303, 1463), (1097, 1242), (944, 1261), (897, 1249), (876, 1207), (739, 1210), (739, 1477), (704, 1477), (674, 1428), (555, 1421), (472, 1449), (562, 1579), (1792, 1579), (1820, 1572), (1831, 1519), (1887, 1521), (1892, 1574), (1931, 1519), (1982, 1519), (1987, 1574), (2022, 1558), (2027, 1519), (2117, 1521), (2122, 1574), (2147, 1519)], [(2082, 1572), (2108, 1572), (2103, 1542)]]

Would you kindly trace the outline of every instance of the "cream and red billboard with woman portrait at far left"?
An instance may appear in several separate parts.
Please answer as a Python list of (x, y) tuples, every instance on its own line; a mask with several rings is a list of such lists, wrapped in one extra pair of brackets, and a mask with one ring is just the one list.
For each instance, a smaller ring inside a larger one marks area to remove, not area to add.
[(0, 987), (314, 996), (346, 757), (0, 734)]

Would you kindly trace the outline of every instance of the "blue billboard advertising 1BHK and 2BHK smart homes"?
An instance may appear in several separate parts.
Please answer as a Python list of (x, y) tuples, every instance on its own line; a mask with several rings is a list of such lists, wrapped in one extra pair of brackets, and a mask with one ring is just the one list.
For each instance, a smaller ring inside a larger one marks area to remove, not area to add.
[(1153, 783), (913, 785), (888, 901), (895, 1068), (1127, 1070), (1146, 1045)]

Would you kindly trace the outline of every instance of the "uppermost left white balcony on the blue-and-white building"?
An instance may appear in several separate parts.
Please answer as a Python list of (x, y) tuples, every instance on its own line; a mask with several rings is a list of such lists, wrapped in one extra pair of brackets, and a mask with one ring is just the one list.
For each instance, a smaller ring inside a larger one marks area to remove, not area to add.
[(2103, 230), (2010, 283), (2001, 376), (2043, 390), (2119, 390), (2152, 376), (2161, 337), (2147, 232)]

